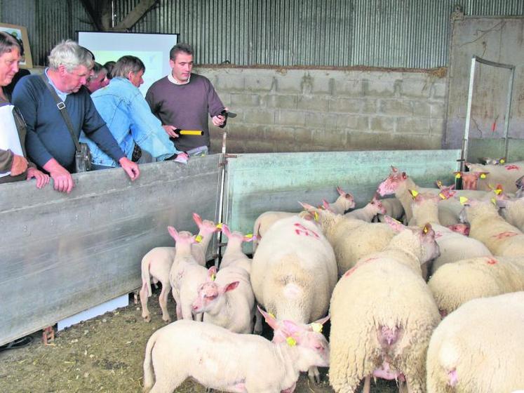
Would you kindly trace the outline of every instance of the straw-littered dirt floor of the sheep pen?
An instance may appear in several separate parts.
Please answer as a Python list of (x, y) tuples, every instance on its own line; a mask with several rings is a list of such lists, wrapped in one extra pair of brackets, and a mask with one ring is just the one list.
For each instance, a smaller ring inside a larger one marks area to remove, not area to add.
[[(158, 295), (159, 291), (155, 291), (149, 298), (152, 313), (149, 324), (142, 320), (140, 303), (135, 305), (131, 296), (128, 307), (60, 331), (50, 345), (43, 345), (38, 332), (34, 333), (31, 345), (0, 352), (0, 392), (142, 392), (146, 342), (156, 329), (165, 325)], [(176, 314), (173, 300), (169, 311)], [(301, 375), (295, 392), (333, 392), (327, 371), (321, 369), (319, 386), (309, 385), (307, 375)], [(187, 380), (176, 392), (203, 393), (206, 389)], [(398, 392), (398, 389), (394, 382), (379, 381), (372, 386), (372, 392)]]

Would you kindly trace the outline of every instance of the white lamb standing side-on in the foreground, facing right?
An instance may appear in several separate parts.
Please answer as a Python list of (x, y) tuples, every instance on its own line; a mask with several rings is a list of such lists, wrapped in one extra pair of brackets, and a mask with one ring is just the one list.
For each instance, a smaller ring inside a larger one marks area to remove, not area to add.
[(224, 392), (292, 393), (300, 371), (328, 366), (329, 344), (314, 326), (282, 325), (288, 340), (278, 344), (195, 321), (164, 326), (147, 342), (144, 392), (171, 393), (194, 378)]

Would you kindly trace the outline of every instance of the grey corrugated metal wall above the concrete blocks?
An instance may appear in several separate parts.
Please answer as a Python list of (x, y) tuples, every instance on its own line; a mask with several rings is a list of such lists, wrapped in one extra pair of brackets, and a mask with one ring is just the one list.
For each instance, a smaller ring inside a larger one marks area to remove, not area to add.
[[(116, 23), (139, 2), (114, 0)], [(60, 39), (93, 29), (80, 0), (1, 4), (3, 22), (27, 25), (36, 64)], [(130, 31), (180, 33), (200, 64), (433, 68), (448, 65), (456, 5), (524, 15), (523, 0), (159, 0)]]

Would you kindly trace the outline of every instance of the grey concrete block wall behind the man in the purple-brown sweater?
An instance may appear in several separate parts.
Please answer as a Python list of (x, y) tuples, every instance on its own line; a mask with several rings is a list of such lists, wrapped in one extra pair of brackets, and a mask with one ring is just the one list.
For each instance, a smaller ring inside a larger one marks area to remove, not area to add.
[[(440, 149), (445, 77), (347, 69), (195, 68), (239, 114), (227, 151)], [(210, 125), (213, 152), (220, 131)]]

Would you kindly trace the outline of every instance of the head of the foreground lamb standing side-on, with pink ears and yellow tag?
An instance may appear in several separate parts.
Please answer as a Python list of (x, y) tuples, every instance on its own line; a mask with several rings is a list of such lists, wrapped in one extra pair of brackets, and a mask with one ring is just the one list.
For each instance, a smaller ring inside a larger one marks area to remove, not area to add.
[(278, 321), (272, 314), (264, 312), (260, 307), (258, 310), (264, 316), (267, 324), (273, 329), (272, 342), (291, 347), (299, 347), (302, 352), (300, 356), (300, 371), (307, 371), (311, 366), (329, 366), (329, 343), (322, 334), (322, 326), (330, 318), (324, 317), (311, 324), (297, 324), (293, 321)]

